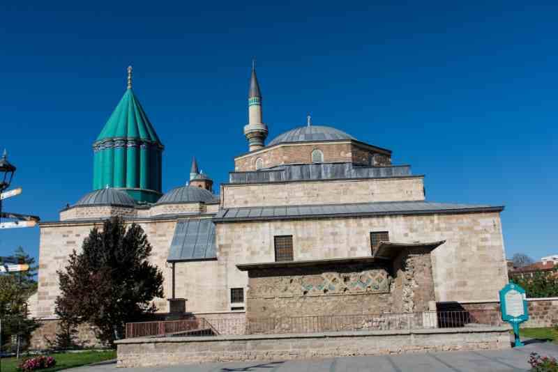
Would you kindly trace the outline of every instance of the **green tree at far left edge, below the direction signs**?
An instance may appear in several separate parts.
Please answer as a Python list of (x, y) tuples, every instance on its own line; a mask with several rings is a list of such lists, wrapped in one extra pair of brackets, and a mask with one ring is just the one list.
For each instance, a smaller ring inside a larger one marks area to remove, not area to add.
[[(31, 332), (40, 326), (30, 319), (27, 300), (35, 293), (37, 283), (34, 279), (37, 271), (35, 258), (18, 247), (13, 255), (20, 263), (27, 263), (27, 272), (7, 272), (0, 274), (0, 319), (2, 321), (0, 350), (15, 350), (13, 336), (18, 336), (21, 348), (29, 344)], [(17, 338), (16, 338), (17, 340)]]

